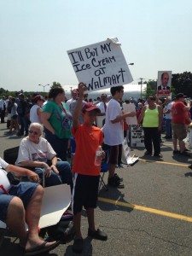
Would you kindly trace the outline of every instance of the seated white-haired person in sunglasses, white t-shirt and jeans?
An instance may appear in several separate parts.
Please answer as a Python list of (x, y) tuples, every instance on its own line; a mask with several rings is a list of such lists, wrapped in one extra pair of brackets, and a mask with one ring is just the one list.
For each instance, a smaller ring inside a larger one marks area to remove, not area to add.
[(73, 189), (71, 166), (67, 161), (57, 160), (54, 149), (42, 137), (43, 131), (43, 125), (38, 123), (29, 126), (29, 135), (20, 142), (16, 165), (32, 168), (42, 180), (45, 175), (44, 181), (47, 187), (67, 183)]

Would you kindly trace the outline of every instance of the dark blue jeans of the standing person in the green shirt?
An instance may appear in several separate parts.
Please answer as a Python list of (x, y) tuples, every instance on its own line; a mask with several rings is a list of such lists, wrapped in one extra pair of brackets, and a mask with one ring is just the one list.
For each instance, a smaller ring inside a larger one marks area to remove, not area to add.
[(47, 129), (44, 129), (45, 138), (50, 143), (51, 147), (54, 148), (56, 156), (63, 161), (67, 160), (67, 148), (68, 139), (59, 138)]

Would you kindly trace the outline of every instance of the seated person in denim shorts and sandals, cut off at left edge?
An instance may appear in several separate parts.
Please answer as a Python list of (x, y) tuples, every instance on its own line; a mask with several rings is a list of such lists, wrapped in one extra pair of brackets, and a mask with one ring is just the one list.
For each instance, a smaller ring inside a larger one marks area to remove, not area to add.
[[(4, 171), (4, 170), (6, 171)], [(19, 176), (27, 176), (33, 182), (11, 185), (7, 172), (15, 172)], [(20, 247), (25, 255), (48, 252), (57, 246), (57, 242), (45, 242), (38, 236), (38, 222), (41, 212), (44, 189), (38, 183), (38, 174), (9, 165), (0, 157), (0, 220), (7, 224), (20, 239)], [(26, 226), (28, 233), (26, 234)]]

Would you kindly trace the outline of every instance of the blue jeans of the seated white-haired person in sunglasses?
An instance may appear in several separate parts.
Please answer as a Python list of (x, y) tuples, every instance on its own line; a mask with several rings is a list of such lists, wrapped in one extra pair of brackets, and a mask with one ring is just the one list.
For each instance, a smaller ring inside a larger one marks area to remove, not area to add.
[[(59, 171), (59, 175), (57, 175), (55, 172), (51, 172), (50, 177), (45, 177), (45, 186), (55, 186), (59, 185), (61, 183), (65, 184), (67, 183), (70, 185), (71, 190), (73, 189), (73, 176), (71, 172), (71, 166), (67, 161), (58, 161), (56, 164), (56, 168)], [(36, 167), (34, 172), (38, 174), (38, 177), (43, 180), (44, 175), (44, 168)]]

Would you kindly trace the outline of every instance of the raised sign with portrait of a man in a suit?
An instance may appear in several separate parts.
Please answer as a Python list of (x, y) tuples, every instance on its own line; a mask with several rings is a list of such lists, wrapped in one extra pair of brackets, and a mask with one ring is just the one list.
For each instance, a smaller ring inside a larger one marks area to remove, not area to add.
[(172, 71), (158, 71), (157, 96), (170, 96)]

